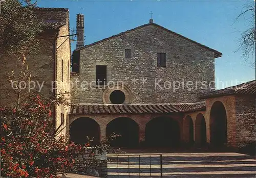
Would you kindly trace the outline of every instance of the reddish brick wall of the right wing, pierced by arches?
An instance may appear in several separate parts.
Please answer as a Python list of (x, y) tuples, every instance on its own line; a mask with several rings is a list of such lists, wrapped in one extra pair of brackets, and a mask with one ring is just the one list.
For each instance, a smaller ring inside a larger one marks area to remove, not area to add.
[[(221, 101), (226, 110), (227, 116), (227, 145), (233, 148), (243, 148), (250, 144), (255, 144), (256, 140), (256, 117), (255, 117), (255, 95), (229, 95), (206, 99), (206, 111), (186, 113), (183, 117), (190, 116), (194, 123), (194, 140), (197, 143), (198, 114), (201, 113), (206, 121), (207, 142), (210, 143), (210, 111), (216, 101)], [(188, 125), (183, 123), (183, 141), (186, 142)]]

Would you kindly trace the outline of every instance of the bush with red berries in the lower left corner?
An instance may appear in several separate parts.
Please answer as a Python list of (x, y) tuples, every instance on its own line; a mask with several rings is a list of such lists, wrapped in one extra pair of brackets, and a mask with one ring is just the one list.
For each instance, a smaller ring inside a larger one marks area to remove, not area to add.
[(81, 146), (56, 137), (50, 106), (36, 95), (19, 108), (0, 108), (2, 176), (56, 177), (72, 168)]

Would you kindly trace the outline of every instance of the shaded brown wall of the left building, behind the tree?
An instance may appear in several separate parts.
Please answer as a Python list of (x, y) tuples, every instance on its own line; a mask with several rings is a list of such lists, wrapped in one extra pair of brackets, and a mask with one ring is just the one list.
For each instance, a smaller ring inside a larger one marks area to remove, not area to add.
[[(55, 80), (54, 77), (54, 61), (55, 61), (55, 38), (57, 31), (45, 31), (42, 33), (38, 39), (40, 40), (40, 53), (38, 55), (26, 56), (25, 65), (28, 66), (29, 72), (31, 73), (31, 80), (35, 82), (31, 83), (31, 90), (28, 86), (23, 90), (24, 94), (40, 93), (40, 95), (45, 97), (50, 97), (52, 93), (52, 81)], [(22, 61), (17, 58), (17, 56), (3, 57), (1, 58), (1, 104), (10, 105), (11, 101), (16, 97), (11, 85), (7, 82), (12, 70), (17, 77), (20, 72), (20, 66)], [(40, 87), (41, 90), (39, 89)], [(7, 95), (10, 94), (10, 97)]]

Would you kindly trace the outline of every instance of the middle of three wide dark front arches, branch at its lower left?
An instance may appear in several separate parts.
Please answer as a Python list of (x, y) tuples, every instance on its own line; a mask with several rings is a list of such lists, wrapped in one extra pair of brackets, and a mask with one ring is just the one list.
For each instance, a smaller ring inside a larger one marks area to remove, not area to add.
[(111, 141), (113, 147), (136, 147), (139, 143), (139, 126), (131, 118), (118, 117), (106, 125), (106, 136), (112, 133), (120, 136)]

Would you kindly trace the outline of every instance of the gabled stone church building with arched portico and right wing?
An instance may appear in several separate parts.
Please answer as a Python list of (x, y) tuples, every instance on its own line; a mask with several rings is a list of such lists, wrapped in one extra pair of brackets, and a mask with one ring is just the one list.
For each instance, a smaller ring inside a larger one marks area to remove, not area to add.
[(97, 143), (115, 132), (121, 147), (255, 143), (255, 81), (215, 90), (221, 55), (152, 19), (75, 49), (70, 139)]

